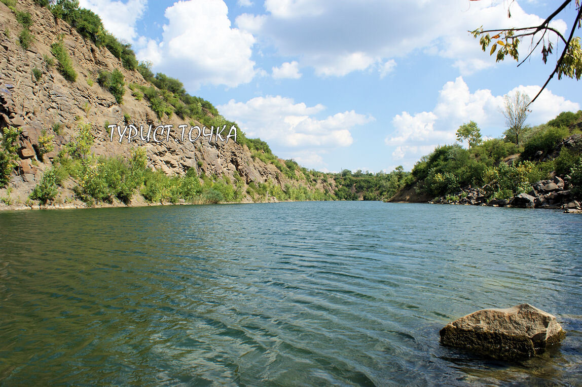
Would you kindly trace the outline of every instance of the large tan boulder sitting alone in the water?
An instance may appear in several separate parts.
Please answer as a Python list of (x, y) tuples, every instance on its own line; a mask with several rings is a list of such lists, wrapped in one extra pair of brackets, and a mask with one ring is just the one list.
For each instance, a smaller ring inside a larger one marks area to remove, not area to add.
[(442, 345), (505, 360), (543, 353), (566, 336), (555, 316), (530, 304), (478, 310), (450, 322), (440, 334)]

